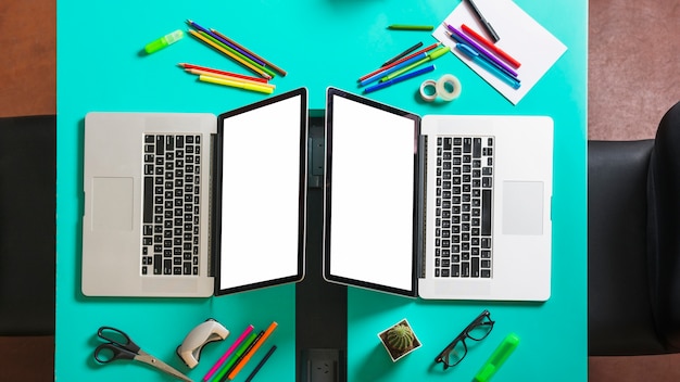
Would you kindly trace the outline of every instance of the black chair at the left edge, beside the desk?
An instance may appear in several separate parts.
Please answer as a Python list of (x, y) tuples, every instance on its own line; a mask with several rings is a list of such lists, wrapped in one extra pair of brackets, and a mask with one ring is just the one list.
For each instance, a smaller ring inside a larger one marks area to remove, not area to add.
[(56, 118), (0, 118), (0, 335), (54, 334)]

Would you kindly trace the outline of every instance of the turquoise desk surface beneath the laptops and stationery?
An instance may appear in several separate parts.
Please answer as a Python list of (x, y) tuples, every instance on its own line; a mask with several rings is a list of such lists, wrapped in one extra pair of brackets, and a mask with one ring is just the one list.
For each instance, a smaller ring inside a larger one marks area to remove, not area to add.
[[(370, 98), (424, 114), (549, 115), (555, 122), (552, 296), (543, 304), (432, 302), (370, 291), (348, 292), (349, 381), (471, 380), (509, 332), (521, 339), (496, 381), (587, 379), (587, 24), (584, 0), (517, 0), (568, 50), (514, 106), (453, 54), (439, 59), (430, 77), (455, 74), (463, 94), (451, 103), (420, 102), (424, 78), (392, 86)], [(248, 74), (190, 37), (149, 56), (142, 47), (191, 18), (213, 27), (288, 71), (276, 93), (306, 87), (310, 107), (324, 109), (328, 86), (356, 90), (356, 79), (414, 44), (435, 42), (429, 33), (393, 31), (389, 24), (438, 25), (458, 4), (444, 0), (251, 0), (58, 2), (58, 275), (59, 381), (163, 381), (131, 362), (99, 366), (92, 349), (100, 326), (126, 331), (142, 348), (200, 380), (248, 323), (279, 323), (264, 346), (276, 344), (260, 381), (295, 379), (294, 285), (199, 298), (91, 298), (80, 293), (83, 128), (90, 111), (209, 112), (219, 114), (266, 98), (198, 82), (176, 64), (190, 62)], [(358, 92), (358, 91), (357, 91)], [(496, 326), (470, 347), (467, 358), (442, 372), (435, 356), (483, 308)], [(213, 317), (235, 334), (211, 344), (188, 370), (175, 356), (186, 333)], [(424, 346), (392, 364), (376, 334), (407, 318)], [(323, 324), (320, 322), (319, 324)], [(329, 329), (332, 330), (332, 329)], [(259, 359), (264, 349), (255, 355)], [(237, 380), (243, 380), (251, 362)]]

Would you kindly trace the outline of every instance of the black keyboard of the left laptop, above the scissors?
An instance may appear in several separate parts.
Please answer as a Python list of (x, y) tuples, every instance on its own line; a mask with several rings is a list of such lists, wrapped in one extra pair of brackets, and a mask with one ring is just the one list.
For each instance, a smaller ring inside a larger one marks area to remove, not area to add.
[(201, 136), (143, 140), (141, 275), (198, 275)]

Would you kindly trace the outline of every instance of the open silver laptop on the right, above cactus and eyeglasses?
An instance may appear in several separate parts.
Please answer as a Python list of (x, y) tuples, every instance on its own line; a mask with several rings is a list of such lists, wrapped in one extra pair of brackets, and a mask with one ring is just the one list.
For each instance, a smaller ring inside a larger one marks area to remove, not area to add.
[(324, 277), (437, 300), (551, 294), (553, 122), (327, 90)]

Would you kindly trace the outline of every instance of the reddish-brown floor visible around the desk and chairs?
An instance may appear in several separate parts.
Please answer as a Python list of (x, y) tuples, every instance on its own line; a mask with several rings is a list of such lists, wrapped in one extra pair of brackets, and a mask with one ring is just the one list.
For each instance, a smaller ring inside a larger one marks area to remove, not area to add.
[[(680, 1), (591, 0), (589, 138), (654, 137), (680, 100)], [(0, 5), (0, 117), (56, 113), (55, 2)], [(0, 338), (0, 381), (53, 379), (53, 336)], [(680, 356), (591, 357), (591, 381), (680, 381)]]

